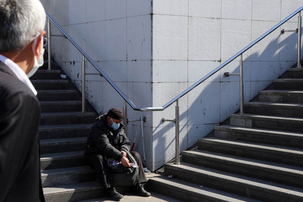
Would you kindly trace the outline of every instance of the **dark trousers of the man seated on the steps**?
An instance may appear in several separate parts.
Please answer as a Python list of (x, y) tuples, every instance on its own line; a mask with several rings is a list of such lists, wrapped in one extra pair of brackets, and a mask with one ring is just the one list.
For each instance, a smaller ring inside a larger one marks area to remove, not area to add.
[[(138, 154), (138, 152), (136, 151), (130, 151), (130, 153), (135, 158), (139, 166), (139, 176), (137, 183), (146, 182), (147, 179), (145, 177), (140, 154)], [(104, 189), (112, 187), (112, 178), (107, 167), (107, 157), (97, 153), (87, 154), (85, 156), (85, 162), (89, 167), (92, 167), (95, 170), (95, 173), (97, 174), (97, 179)]]

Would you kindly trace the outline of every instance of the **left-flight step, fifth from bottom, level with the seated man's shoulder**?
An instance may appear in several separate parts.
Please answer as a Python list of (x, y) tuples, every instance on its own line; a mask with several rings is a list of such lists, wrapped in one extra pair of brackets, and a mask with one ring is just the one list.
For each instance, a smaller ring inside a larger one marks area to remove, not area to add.
[(39, 126), (40, 140), (69, 138), (69, 137), (86, 137), (91, 124), (62, 124)]

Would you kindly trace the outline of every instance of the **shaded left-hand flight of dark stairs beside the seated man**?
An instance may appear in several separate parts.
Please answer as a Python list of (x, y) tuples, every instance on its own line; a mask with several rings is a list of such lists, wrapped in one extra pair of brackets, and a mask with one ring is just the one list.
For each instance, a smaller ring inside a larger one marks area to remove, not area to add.
[[(86, 136), (98, 113), (56, 65), (42, 66), (30, 79), (42, 108), (40, 164), (46, 201), (80, 201), (104, 196), (94, 171), (83, 162)], [(88, 103), (88, 102), (86, 102)]]

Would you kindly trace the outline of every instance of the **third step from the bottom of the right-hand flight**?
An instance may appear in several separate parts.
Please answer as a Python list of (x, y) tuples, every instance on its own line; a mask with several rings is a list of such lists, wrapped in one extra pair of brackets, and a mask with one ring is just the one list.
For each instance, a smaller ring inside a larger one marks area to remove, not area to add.
[(182, 163), (195, 164), (229, 173), (280, 184), (303, 187), (303, 168), (211, 151), (183, 151)]

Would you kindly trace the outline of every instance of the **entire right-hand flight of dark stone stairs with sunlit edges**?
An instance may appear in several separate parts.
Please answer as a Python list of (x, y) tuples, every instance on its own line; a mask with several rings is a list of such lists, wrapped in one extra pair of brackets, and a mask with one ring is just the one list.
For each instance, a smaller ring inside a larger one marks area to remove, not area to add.
[(286, 75), (183, 151), (180, 165), (166, 164), (149, 190), (183, 201), (303, 201), (303, 69)]

